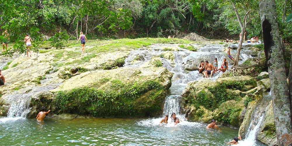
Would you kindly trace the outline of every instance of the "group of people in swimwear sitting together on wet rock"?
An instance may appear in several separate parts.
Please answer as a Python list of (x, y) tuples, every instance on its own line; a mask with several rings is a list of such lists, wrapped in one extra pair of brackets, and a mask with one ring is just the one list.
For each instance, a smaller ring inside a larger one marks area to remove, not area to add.
[[(232, 56), (231, 56), (231, 58), (232, 58)], [(214, 63), (214, 65), (212, 65), (213, 63)], [(202, 60), (201, 63), (199, 64), (198, 68), (199, 68), (199, 73), (203, 73), (206, 78), (209, 78), (208, 74), (210, 74), (210, 78), (211, 78), (212, 75), (217, 71), (225, 72), (228, 69), (228, 62), (227, 62), (226, 58), (223, 58), (223, 61), (218, 69), (217, 58), (214, 58), (214, 61), (211, 63), (209, 63), (207, 60), (205, 62)]]

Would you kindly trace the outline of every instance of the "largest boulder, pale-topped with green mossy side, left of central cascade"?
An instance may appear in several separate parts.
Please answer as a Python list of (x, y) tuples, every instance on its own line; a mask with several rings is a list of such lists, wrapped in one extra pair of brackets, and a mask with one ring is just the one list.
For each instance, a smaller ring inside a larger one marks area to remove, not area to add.
[(54, 114), (93, 117), (145, 117), (163, 112), (172, 74), (164, 67), (96, 70), (81, 73), (49, 93), (32, 98), (30, 117), (41, 106)]

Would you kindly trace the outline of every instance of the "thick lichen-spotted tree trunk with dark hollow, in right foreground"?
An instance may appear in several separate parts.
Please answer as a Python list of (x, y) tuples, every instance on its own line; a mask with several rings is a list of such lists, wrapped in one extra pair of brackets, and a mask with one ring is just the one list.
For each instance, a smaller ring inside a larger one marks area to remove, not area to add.
[(279, 146), (292, 145), (291, 101), (277, 23), (275, 0), (259, 0), (264, 51), (271, 84), (273, 113)]

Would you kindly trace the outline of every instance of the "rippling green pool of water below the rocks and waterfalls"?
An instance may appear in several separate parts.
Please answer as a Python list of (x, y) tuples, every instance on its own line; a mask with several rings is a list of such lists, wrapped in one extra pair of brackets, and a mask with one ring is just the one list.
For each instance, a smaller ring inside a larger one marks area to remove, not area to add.
[(160, 119), (35, 119), (0, 118), (1, 145), (225, 145), (238, 130), (183, 121), (158, 125)]

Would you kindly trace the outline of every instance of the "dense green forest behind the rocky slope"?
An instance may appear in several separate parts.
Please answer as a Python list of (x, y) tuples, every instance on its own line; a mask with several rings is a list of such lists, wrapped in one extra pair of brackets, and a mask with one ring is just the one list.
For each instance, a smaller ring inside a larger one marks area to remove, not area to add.
[[(181, 37), (196, 32), (210, 39), (262, 38), (258, 1), (251, 0), (1, 0), (1, 32), (18, 41), (28, 33), (35, 42), (53, 36), (52, 45), (76, 39)], [(292, 25), (285, 22), (292, 1), (276, 0), (280, 35), (291, 44)], [(246, 18), (246, 19), (245, 19)], [(37, 44), (41, 43), (34, 43)], [(62, 44), (62, 43), (61, 43)], [(24, 48), (23, 48), (24, 49)], [(22, 49), (20, 49), (22, 50)], [(21, 52), (21, 51), (20, 51)]]

